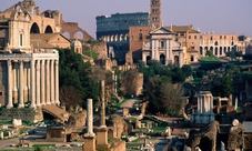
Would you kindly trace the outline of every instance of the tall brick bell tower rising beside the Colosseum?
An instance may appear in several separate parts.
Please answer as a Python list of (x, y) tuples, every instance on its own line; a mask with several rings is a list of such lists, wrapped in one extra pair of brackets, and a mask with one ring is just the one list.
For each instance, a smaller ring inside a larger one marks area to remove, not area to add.
[(150, 0), (150, 26), (152, 29), (162, 27), (162, 0)]

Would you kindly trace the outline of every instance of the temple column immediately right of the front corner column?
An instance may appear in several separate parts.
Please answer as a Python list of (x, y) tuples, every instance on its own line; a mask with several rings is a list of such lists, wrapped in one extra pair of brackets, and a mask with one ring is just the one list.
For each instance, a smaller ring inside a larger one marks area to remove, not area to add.
[(36, 64), (36, 100), (37, 107), (40, 107), (40, 60), (37, 60), (37, 64)]

